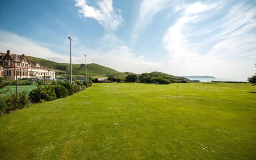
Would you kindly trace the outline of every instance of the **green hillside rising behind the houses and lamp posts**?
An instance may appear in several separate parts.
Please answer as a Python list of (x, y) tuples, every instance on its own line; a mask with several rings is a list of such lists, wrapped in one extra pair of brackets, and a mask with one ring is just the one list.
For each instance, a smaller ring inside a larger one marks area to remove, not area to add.
[[(69, 63), (58, 63), (53, 62), (50, 60), (45, 60), (42, 58), (36, 58), (32, 56), (27, 56), (28, 60), (30, 61), (36, 61), (39, 62), (42, 66), (47, 66), (51, 69), (54, 69), (57, 73), (63, 73), (63, 74), (69, 74), (70, 64)], [(72, 64), (72, 74), (73, 75), (86, 75), (86, 66), (81, 64)], [(124, 79), (126, 76), (130, 74), (135, 74), (132, 72), (118, 72), (112, 68), (108, 68), (99, 64), (87, 64), (87, 74), (88, 76), (113, 76), (116, 78)], [(158, 76), (158, 77), (164, 77), (168, 78), (170, 80), (174, 81), (182, 81), (186, 80), (189, 81), (187, 78), (184, 77), (177, 77), (170, 74), (162, 73), (162, 72), (151, 72), (149, 73), (151, 76)], [(140, 77), (140, 74), (136, 74), (138, 77)]]

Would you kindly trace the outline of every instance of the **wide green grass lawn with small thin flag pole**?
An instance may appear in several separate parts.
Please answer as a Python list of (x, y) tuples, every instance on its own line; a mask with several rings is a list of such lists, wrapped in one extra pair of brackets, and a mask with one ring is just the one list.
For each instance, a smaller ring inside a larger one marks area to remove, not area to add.
[(254, 160), (250, 84), (94, 84), (0, 117), (1, 160)]

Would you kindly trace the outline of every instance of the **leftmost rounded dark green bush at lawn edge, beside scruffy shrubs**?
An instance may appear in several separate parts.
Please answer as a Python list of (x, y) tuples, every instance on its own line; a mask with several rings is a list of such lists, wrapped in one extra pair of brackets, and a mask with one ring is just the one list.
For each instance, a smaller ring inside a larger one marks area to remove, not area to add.
[(54, 88), (52, 88), (51, 86), (38, 86), (38, 88), (31, 90), (31, 92), (28, 94), (28, 97), (30, 99), (30, 102), (38, 103), (42, 102), (42, 100), (55, 100), (56, 94)]

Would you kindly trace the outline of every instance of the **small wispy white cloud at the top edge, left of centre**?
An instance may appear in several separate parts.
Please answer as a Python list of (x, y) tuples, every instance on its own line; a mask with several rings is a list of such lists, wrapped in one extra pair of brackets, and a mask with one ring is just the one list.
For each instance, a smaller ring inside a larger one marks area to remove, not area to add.
[(124, 24), (124, 19), (121, 15), (122, 11), (114, 11), (112, 0), (100, 0), (98, 1), (98, 7), (88, 5), (87, 0), (76, 0), (75, 6), (81, 8), (79, 13), (83, 14), (85, 18), (93, 18), (97, 20), (102, 26), (104, 26), (109, 32), (117, 29), (118, 26)]

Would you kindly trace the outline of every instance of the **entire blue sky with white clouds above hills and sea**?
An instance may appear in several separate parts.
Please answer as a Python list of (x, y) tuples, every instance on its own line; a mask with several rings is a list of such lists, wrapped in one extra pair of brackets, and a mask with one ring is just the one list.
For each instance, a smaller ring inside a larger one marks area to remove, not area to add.
[(254, 0), (0, 0), (0, 52), (119, 72), (246, 80)]

